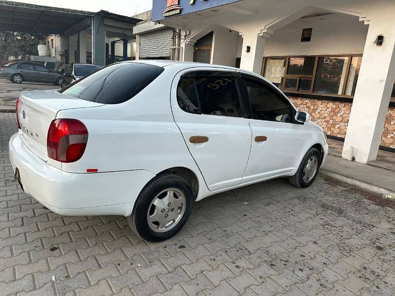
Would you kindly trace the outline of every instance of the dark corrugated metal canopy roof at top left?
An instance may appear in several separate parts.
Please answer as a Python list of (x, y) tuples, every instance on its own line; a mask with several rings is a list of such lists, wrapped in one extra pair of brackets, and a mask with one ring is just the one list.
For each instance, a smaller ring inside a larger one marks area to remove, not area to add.
[(0, 30), (59, 35), (94, 14), (90, 11), (0, 0)]

